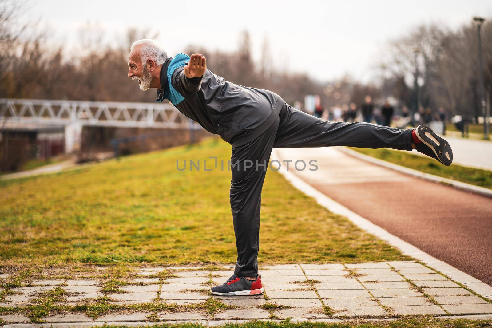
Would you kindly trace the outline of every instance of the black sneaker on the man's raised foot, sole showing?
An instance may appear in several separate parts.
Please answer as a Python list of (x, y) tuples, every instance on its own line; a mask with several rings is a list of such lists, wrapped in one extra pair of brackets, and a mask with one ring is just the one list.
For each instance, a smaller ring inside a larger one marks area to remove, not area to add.
[(419, 125), (415, 128), (415, 135), (421, 143), (415, 144), (415, 149), (427, 156), (437, 159), (446, 166), (453, 162), (453, 150), (449, 143), (439, 137), (427, 125)]

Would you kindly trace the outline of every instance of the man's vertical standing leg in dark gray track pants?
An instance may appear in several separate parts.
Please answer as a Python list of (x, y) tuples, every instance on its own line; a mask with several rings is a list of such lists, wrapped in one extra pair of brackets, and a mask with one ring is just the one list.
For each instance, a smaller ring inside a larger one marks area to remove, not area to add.
[(279, 119), (257, 139), (232, 149), (231, 209), (238, 258), (234, 273), (258, 273), (261, 189), (275, 142)]

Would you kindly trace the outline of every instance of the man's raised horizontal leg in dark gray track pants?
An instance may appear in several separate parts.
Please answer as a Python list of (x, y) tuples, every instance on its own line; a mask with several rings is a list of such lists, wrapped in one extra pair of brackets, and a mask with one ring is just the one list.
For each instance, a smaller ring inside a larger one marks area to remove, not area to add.
[(412, 150), (412, 129), (366, 122), (328, 122), (285, 105), (274, 148), (349, 146)]

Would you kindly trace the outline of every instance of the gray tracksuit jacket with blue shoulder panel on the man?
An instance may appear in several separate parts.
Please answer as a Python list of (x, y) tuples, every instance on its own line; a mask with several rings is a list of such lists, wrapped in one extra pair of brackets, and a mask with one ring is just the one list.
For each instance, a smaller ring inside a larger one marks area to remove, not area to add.
[(156, 102), (169, 99), (186, 117), (233, 147), (257, 138), (277, 119), (285, 101), (276, 93), (232, 84), (208, 69), (189, 79), (184, 75), (188, 61), (187, 55), (178, 54), (162, 65)]

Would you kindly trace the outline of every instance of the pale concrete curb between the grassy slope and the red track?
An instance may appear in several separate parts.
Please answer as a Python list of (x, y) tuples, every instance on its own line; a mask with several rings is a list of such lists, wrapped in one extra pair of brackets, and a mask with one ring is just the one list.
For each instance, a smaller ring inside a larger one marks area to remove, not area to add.
[[(280, 160), (280, 157), (278, 156), (276, 149), (273, 149), (272, 151), (272, 159)], [(319, 205), (323, 206), (324, 208), (330, 210), (333, 213), (340, 214), (347, 217), (359, 228), (399, 248), (403, 254), (411, 256), (416, 260), (425, 263), (429, 267), (444, 273), (452, 280), (463, 284), (464, 286), (468, 287), (470, 290), (474, 291), (475, 293), (485, 298), (492, 299), (492, 287), (487, 285), (486, 283), (476, 278), (473, 278), (469, 274), (464, 273), (463, 271), (454, 268), (443, 261), (440, 261), (432, 257), (431, 255), (420, 250), (419, 248), (390, 234), (383, 228), (370, 222), (368, 219), (363, 218), (359, 214), (351, 211), (350, 209), (347, 209), (341, 204), (338, 204), (333, 199), (329, 198), (319, 190), (309, 185), (303, 179), (294, 175), (291, 171), (287, 171), (284, 166), (280, 166), (278, 172), (280, 172), (285, 177), (285, 179), (287, 179), (290, 183), (292, 183), (294, 187), (305, 193), (307, 196), (313, 197), (316, 200), (316, 202)]]

